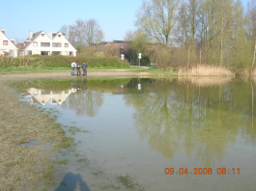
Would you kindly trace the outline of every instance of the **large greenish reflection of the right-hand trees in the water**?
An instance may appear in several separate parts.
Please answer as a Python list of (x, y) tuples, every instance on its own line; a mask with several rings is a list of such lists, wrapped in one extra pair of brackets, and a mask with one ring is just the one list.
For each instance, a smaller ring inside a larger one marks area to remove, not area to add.
[(255, 144), (256, 134), (248, 128), (249, 84), (200, 87), (188, 79), (159, 79), (144, 83), (142, 89), (141, 94), (124, 95), (124, 100), (135, 108), (134, 126), (140, 138), (163, 157), (172, 159), (185, 149), (188, 156), (193, 152), (200, 163), (211, 167), (222, 160), (240, 131), (245, 141)]

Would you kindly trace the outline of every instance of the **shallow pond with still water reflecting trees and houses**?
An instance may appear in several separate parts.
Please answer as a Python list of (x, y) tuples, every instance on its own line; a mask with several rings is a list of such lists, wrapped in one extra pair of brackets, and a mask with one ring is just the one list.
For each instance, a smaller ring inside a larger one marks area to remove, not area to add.
[(23, 88), (26, 101), (60, 111), (57, 123), (76, 143), (56, 156), (68, 164), (57, 168), (52, 190), (256, 187), (254, 82), (78, 78)]

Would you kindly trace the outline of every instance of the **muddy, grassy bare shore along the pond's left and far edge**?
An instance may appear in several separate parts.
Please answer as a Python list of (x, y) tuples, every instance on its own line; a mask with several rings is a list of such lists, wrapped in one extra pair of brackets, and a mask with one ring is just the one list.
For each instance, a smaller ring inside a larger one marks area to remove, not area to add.
[[(150, 75), (128, 70), (89, 71), (88, 77)], [(43, 110), (19, 101), (14, 82), (36, 79), (70, 78), (71, 72), (23, 72), (0, 74), (0, 190), (45, 190), (54, 183), (52, 149), (67, 149), (61, 124)], [(51, 115), (53, 116), (53, 115)], [(34, 147), (22, 144), (36, 141)], [(40, 185), (40, 187), (39, 187)]]

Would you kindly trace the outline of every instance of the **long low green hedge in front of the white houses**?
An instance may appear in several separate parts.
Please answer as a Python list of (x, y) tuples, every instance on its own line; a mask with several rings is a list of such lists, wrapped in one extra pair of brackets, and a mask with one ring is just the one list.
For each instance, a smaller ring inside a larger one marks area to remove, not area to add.
[(0, 57), (0, 68), (57, 68), (71, 67), (72, 62), (85, 62), (89, 68), (95, 67), (129, 67), (128, 62), (119, 58), (93, 58), (85, 56), (39, 56), (31, 55), (20, 58)]

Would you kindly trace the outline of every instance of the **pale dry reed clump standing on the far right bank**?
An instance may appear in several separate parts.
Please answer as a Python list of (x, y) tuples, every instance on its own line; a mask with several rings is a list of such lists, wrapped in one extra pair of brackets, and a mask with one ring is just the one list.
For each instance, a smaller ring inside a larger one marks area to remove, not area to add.
[(192, 68), (180, 68), (178, 75), (232, 75), (233, 73), (220, 67), (213, 67), (208, 65), (198, 65)]

